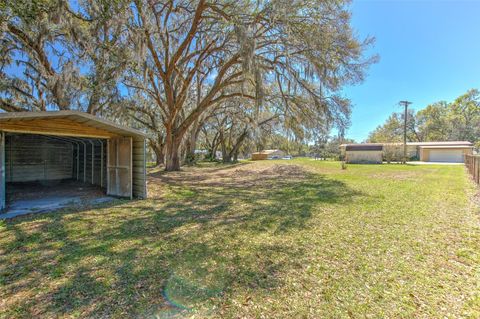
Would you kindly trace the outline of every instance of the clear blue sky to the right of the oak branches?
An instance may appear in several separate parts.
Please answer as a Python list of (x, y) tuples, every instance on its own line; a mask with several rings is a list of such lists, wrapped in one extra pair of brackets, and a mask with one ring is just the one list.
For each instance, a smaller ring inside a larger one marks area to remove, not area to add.
[(380, 61), (365, 81), (345, 89), (354, 104), (346, 137), (360, 142), (394, 111), (398, 101), (422, 109), (480, 89), (480, 0), (354, 0), (358, 36), (374, 36)]

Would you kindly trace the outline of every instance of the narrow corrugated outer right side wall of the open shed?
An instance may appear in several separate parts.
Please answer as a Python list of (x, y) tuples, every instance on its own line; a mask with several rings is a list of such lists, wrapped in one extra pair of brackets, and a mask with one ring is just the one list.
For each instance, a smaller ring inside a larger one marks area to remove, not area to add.
[(133, 196), (147, 198), (147, 169), (145, 139), (134, 139), (132, 145)]

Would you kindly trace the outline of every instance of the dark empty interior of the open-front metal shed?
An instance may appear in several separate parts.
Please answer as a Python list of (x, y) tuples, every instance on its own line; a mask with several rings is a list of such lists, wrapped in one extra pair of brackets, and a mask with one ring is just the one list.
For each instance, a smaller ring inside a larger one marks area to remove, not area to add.
[(106, 139), (6, 133), (4, 147), (7, 209), (23, 201), (106, 194)]

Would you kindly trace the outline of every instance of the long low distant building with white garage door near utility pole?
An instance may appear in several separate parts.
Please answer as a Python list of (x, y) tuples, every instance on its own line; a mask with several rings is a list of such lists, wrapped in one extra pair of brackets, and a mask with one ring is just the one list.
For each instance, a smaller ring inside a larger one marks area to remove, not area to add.
[[(403, 158), (403, 143), (370, 143), (370, 144), (343, 144), (340, 146), (342, 155), (347, 156), (350, 146), (381, 146), (383, 160), (401, 161)], [(355, 150), (355, 155), (350, 154), (350, 159), (356, 162), (371, 162), (372, 153), (361, 153)], [(407, 157), (409, 160), (424, 162), (450, 162), (463, 163), (465, 154), (473, 153), (473, 144), (468, 141), (443, 141), (443, 142), (408, 142)], [(353, 156), (353, 157), (352, 157)]]

